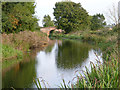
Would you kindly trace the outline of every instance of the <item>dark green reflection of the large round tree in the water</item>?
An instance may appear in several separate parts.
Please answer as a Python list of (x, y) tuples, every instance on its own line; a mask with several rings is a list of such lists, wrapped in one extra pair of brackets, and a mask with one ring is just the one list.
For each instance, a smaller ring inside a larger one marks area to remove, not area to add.
[(58, 46), (57, 65), (62, 68), (73, 68), (80, 65), (87, 57), (90, 47), (78, 41), (63, 41)]

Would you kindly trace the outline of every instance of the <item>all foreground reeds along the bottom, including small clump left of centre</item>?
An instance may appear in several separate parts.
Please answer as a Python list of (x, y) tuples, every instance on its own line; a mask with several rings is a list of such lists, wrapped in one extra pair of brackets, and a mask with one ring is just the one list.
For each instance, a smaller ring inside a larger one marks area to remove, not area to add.
[[(116, 54), (116, 52), (114, 52)], [(77, 76), (76, 84), (67, 85), (63, 80), (63, 84), (59, 86), (60, 88), (119, 88), (119, 76), (118, 76), (118, 57), (111, 57), (111, 60), (99, 64), (93, 64), (91, 62), (91, 70), (89, 71), (86, 68), (83, 71), (84, 75)], [(42, 87), (41, 84), (45, 82), (37, 78), (34, 79), (34, 83), (37, 88), (46, 88)], [(46, 86), (46, 85), (45, 85)]]

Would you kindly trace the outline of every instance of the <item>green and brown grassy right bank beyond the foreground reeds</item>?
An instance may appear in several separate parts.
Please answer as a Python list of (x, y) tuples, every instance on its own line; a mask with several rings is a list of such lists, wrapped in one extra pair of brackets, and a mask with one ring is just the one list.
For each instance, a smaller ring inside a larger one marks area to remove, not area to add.
[(86, 30), (86, 31), (73, 31), (68, 34), (57, 34), (53, 33), (51, 38), (59, 38), (59, 39), (73, 39), (80, 40), (83, 42), (90, 42), (91, 44), (95, 44), (101, 48), (103, 51), (103, 58), (106, 57), (106, 53), (110, 54), (113, 48), (117, 45), (117, 29), (109, 30), (107, 28), (102, 30)]

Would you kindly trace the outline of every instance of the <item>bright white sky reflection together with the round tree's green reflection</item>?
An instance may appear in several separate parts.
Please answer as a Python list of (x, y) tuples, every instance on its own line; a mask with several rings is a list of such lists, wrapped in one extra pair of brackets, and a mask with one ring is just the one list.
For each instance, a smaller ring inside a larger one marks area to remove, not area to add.
[(60, 86), (62, 79), (65, 79), (66, 83), (69, 81), (74, 83), (72, 79), (78, 75), (75, 72), (85, 70), (85, 66), (90, 70), (90, 61), (96, 63), (96, 55), (102, 62), (102, 53), (98, 54), (86, 43), (63, 41), (62, 44), (58, 44), (56, 42), (50, 50), (40, 51), (37, 54), (36, 75), (49, 83), (47, 87)]

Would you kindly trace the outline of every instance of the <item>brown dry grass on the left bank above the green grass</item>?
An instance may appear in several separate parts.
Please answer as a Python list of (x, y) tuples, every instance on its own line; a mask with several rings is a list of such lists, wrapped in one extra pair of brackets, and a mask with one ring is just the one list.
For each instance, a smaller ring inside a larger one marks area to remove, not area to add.
[(19, 33), (2, 34), (2, 44), (26, 51), (47, 44), (47, 36), (38, 31), (23, 31)]

